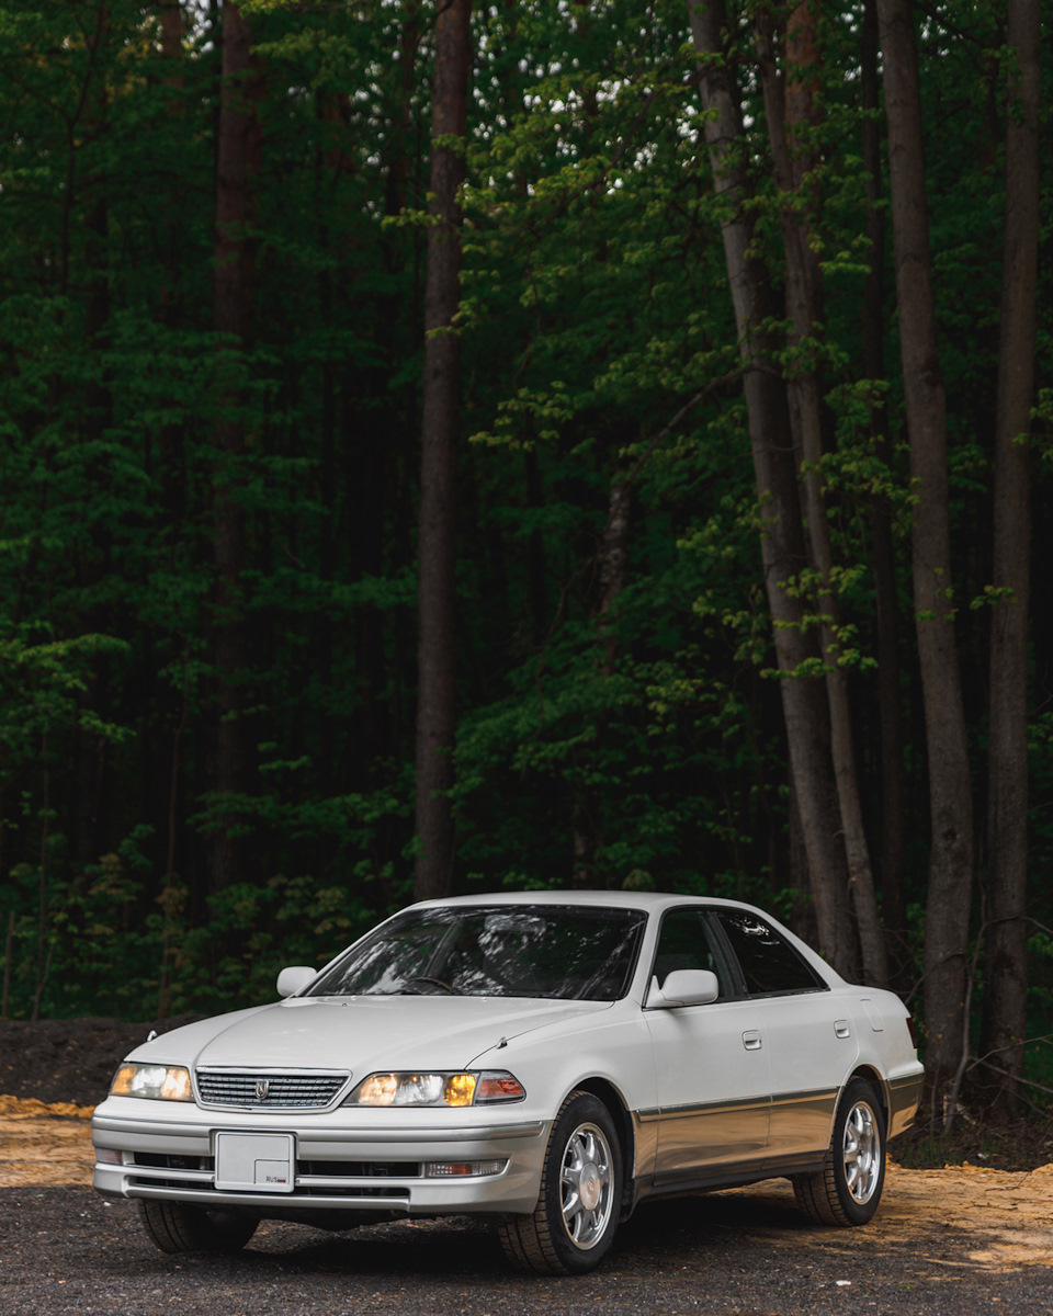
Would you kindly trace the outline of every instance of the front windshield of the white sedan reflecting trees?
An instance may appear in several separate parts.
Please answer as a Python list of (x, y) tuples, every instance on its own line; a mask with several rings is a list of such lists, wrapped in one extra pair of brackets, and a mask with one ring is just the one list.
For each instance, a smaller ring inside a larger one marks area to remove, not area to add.
[(570, 905), (408, 909), (353, 946), (308, 996), (617, 1000), (645, 915)]

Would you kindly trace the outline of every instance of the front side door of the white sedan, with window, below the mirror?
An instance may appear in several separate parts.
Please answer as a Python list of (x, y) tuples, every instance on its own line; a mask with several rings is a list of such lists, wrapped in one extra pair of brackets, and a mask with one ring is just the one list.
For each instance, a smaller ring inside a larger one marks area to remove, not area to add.
[(646, 1009), (659, 1103), (655, 1184), (703, 1180), (720, 1166), (759, 1162), (767, 1145), (769, 1053), (762, 1008), (744, 999), (699, 907), (670, 909), (653, 978), (709, 969), (720, 996), (706, 1005)]

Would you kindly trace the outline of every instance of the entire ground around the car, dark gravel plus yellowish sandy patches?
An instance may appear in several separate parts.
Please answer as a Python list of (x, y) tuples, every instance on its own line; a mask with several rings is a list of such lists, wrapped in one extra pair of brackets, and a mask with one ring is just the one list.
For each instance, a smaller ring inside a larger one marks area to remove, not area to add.
[(134, 1203), (87, 1187), (83, 1116), (147, 1026), (0, 1024), (0, 1316), (1053, 1313), (1041, 1138), (1019, 1173), (891, 1169), (862, 1229), (811, 1224), (784, 1180), (645, 1205), (579, 1279), (511, 1273), (496, 1238), (465, 1219), (347, 1234), (265, 1223), (236, 1257), (167, 1257)]

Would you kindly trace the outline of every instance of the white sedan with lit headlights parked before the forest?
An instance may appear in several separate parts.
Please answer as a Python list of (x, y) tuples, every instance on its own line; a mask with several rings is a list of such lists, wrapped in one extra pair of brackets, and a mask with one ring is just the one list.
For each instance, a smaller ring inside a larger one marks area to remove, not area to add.
[(921, 1090), (896, 996), (728, 900), (426, 901), (278, 992), (145, 1042), (96, 1109), (95, 1187), (163, 1252), (467, 1213), (580, 1274), (640, 1202), (773, 1177), (865, 1224)]

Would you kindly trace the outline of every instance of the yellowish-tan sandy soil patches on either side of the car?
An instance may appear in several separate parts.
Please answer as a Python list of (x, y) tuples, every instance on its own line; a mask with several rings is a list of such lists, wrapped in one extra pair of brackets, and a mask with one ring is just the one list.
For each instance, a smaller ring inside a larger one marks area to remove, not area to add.
[[(91, 1184), (91, 1107), (0, 1096), (0, 1187)], [(771, 1179), (727, 1196), (746, 1195), (786, 1205), (792, 1191)], [(910, 1245), (933, 1265), (991, 1271), (1053, 1266), (1053, 1163), (1031, 1173), (945, 1166), (904, 1170), (891, 1165), (879, 1212), (886, 1244)], [(938, 1240), (948, 1229), (975, 1237), (967, 1261), (946, 1261)], [(771, 1246), (798, 1240), (779, 1228), (754, 1229)]]

